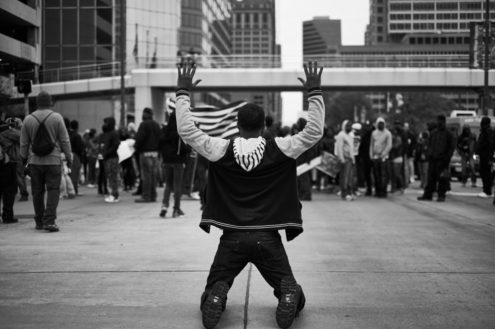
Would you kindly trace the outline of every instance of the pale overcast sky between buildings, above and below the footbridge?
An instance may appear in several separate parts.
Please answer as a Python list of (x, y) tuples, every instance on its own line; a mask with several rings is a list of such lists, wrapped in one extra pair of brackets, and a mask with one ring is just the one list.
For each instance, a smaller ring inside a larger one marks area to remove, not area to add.
[[(369, 22), (369, 0), (275, 0), (277, 43), (282, 45), (284, 67), (302, 57), (302, 22), (314, 16), (341, 20), (343, 45), (363, 45)], [(302, 111), (302, 94), (282, 93), (282, 122), (290, 125)], [(291, 105), (290, 108), (288, 105)], [(300, 104), (298, 108), (294, 105)]]

